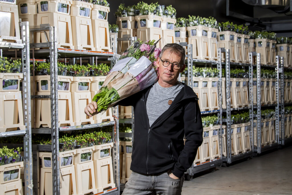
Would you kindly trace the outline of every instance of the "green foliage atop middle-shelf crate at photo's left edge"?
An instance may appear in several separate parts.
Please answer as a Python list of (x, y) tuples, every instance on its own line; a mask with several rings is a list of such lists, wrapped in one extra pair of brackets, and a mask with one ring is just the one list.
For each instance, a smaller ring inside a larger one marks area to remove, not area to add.
[(0, 57), (1, 73), (20, 73), (21, 66), (21, 60), (8, 60), (7, 57)]

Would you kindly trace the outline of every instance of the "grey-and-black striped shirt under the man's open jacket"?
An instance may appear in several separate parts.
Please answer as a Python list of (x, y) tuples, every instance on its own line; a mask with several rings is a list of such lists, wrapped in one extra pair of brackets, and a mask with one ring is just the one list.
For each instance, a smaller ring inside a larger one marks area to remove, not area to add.
[(146, 101), (149, 126), (170, 107), (168, 101), (173, 101), (182, 88), (183, 84), (179, 81), (168, 88), (161, 87), (158, 82), (153, 84)]

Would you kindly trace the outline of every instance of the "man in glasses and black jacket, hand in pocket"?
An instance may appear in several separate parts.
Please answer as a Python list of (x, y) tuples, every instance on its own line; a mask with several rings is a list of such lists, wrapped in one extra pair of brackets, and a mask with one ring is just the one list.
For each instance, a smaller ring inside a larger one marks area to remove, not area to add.
[[(177, 81), (184, 61), (185, 49), (167, 44), (156, 61), (158, 82), (118, 102), (133, 106), (135, 113), (133, 172), (123, 194), (181, 194), (184, 173), (203, 141), (198, 97)], [(96, 109), (93, 102), (84, 111), (92, 116)]]

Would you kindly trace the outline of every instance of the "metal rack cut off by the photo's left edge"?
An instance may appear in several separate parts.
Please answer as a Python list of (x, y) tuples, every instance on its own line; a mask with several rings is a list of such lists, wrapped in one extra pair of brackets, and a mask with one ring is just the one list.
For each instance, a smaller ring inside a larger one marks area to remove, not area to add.
[[(2, 55), (2, 49), (21, 49), (22, 59), (22, 107), (23, 107), (23, 121), (25, 130), (16, 130), (0, 133), (0, 137), (24, 135), (23, 147), (24, 151), (24, 183), (25, 194), (32, 195), (32, 142), (31, 142), (31, 110), (30, 110), (30, 69), (29, 69), (29, 25), (28, 22), (20, 23), (20, 32), (22, 43), (8, 43), (0, 42), (0, 50)], [(4, 52), (6, 54), (6, 52)], [(14, 52), (15, 53), (15, 52)], [(6, 145), (6, 144), (3, 144)], [(13, 144), (11, 147), (15, 147)]]

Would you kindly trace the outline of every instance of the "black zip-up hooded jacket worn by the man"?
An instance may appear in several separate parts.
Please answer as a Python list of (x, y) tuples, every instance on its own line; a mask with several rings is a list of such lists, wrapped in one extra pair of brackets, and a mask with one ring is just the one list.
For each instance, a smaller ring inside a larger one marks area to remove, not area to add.
[(203, 126), (199, 98), (192, 88), (182, 84), (170, 107), (151, 127), (146, 111), (151, 86), (117, 103), (134, 107), (132, 171), (148, 175), (171, 169), (176, 177), (182, 177), (193, 164), (203, 142)]

